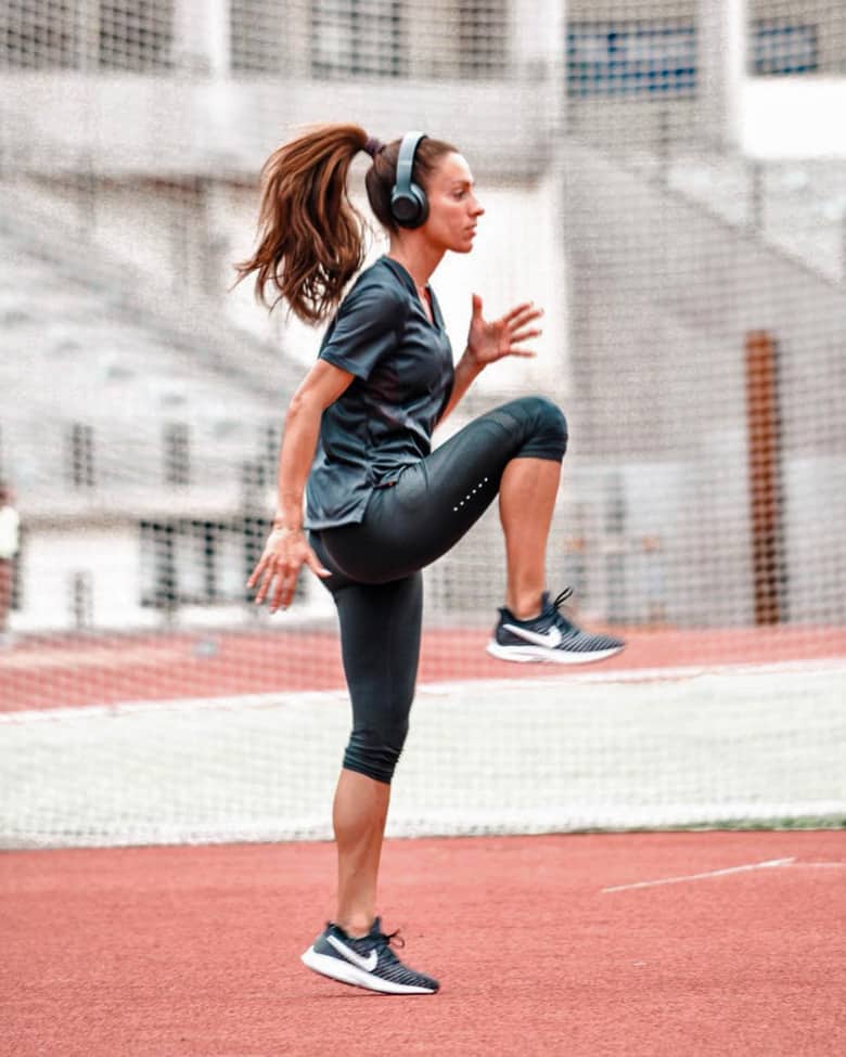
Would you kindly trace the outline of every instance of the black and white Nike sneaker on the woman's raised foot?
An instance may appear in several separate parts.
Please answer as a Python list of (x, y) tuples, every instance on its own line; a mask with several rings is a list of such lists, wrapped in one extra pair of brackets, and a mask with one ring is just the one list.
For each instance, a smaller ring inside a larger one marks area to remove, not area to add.
[(561, 605), (572, 593), (571, 588), (565, 588), (550, 602), (544, 591), (540, 616), (531, 620), (517, 620), (509, 609), (500, 609), (488, 653), (500, 660), (548, 660), (559, 665), (587, 665), (618, 654), (626, 645), (621, 639), (590, 635), (561, 613)]

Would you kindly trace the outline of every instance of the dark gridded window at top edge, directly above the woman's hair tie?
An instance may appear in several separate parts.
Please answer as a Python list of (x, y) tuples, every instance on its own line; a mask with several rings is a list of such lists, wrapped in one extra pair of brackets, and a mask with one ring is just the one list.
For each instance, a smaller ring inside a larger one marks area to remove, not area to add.
[(317, 0), (311, 5), (316, 77), (401, 77), (407, 73), (397, 0)]

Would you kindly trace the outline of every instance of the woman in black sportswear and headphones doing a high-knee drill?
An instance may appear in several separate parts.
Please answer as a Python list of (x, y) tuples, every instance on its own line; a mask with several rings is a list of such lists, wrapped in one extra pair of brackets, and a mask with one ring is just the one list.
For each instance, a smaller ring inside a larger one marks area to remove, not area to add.
[[(342, 302), (362, 263), (346, 186), (359, 151), (372, 157), (368, 198), (389, 248)], [(375, 913), (390, 779), (418, 671), (421, 569), (499, 494), (508, 589), (489, 652), (566, 662), (623, 648), (579, 631), (559, 611), (561, 596), (550, 602), (544, 591), (567, 443), (559, 409), (543, 398), (513, 400), (431, 451), (433, 429), (479, 373), (508, 356), (533, 356), (525, 343), (540, 334), (530, 302), (488, 322), (474, 295), (467, 346), (453, 368), (428, 280), (447, 250), (470, 253), (483, 214), (470, 167), (449, 143), (414, 132), (383, 145), (358, 126), (326, 126), (266, 162), (258, 249), (236, 266), (239, 281), (257, 272), (264, 304), (274, 288), (271, 309), (284, 299), (309, 323), (335, 312), (287, 411), (279, 504), (248, 585), (258, 604), (285, 608), (306, 565), (333, 594), (354, 725), (333, 808), (337, 914), (303, 961), (388, 993), (438, 989), (398, 961)]]

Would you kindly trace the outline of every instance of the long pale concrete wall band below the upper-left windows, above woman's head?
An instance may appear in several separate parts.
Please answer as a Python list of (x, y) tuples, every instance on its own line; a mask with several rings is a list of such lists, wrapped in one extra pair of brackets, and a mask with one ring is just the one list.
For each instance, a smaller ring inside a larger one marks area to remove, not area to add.
[[(119, 105), (115, 105), (116, 100)], [(535, 81), (187, 81), (164, 75), (0, 73), (0, 147), (13, 169), (148, 176), (255, 173), (306, 125), (354, 121), (387, 140), (433, 130), (479, 175), (534, 177), (557, 120)]]

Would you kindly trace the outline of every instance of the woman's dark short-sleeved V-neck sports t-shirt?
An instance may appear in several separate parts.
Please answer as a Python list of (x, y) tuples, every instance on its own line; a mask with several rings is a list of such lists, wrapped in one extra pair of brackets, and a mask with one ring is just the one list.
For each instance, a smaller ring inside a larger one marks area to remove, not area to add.
[(361, 521), (374, 488), (432, 450), (452, 389), (452, 349), (430, 288), (434, 325), (411, 275), (381, 257), (344, 298), (319, 357), (356, 377), (323, 412), (306, 487), (306, 527)]

